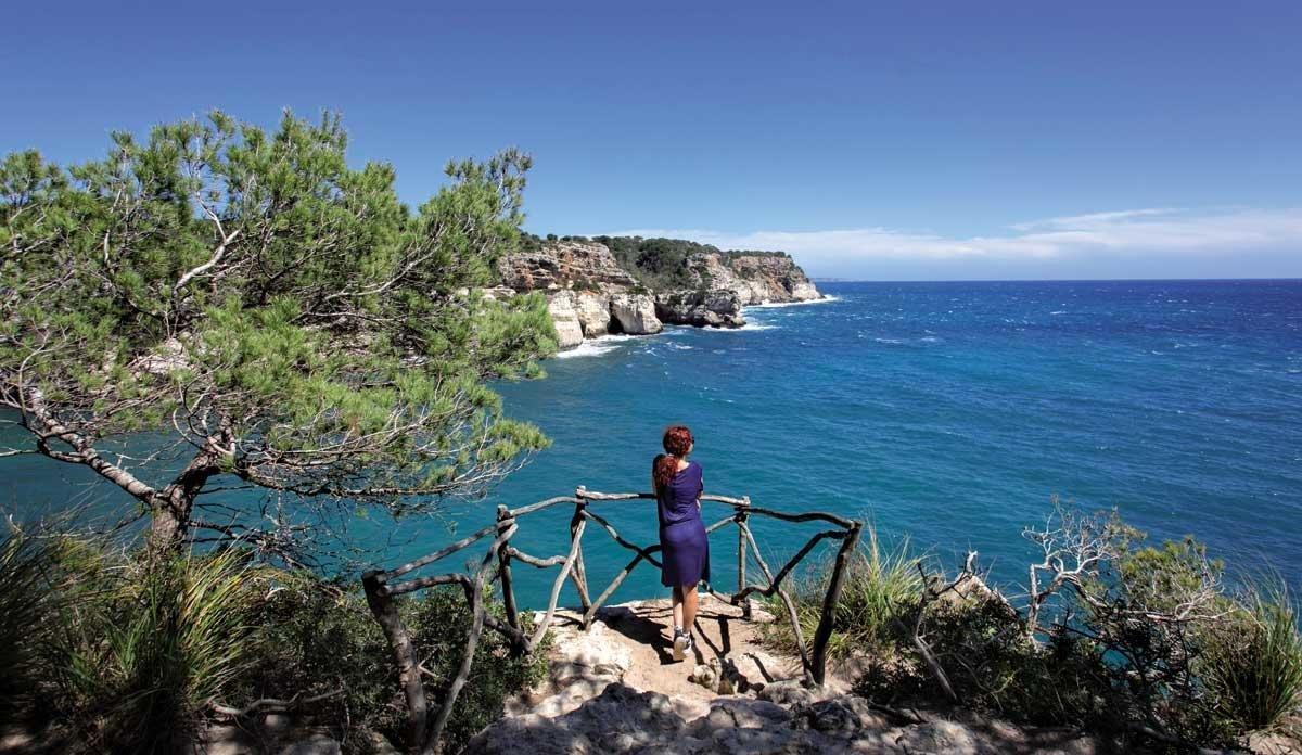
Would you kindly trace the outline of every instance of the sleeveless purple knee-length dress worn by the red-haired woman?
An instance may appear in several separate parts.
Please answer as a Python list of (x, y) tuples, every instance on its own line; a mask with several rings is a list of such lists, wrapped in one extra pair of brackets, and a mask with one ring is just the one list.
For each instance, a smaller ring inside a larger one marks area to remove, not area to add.
[(693, 461), (656, 493), (664, 562), (660, 583), (665, 587), (695, 587), (698, 582), (710, 581), (710, 542), (697, 504), (703, 489), (700, 465)]

